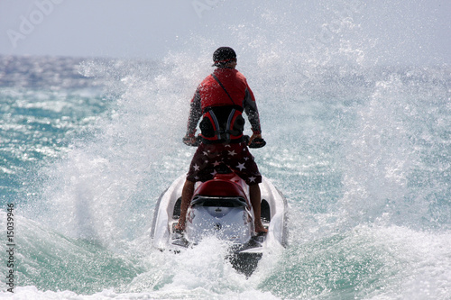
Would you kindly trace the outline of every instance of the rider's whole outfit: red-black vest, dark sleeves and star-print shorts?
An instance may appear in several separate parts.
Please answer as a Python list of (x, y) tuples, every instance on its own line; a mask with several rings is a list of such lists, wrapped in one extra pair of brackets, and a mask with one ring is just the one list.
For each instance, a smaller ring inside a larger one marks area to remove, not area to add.
[[(222, 85), (222, 86), (221, 86)], [(187, 179), (207, 181), (225, 164), (248, 185), (262, 182), (262, 176), (243, 142), (245, 112), (253, 133), (260, 134), (260, 118), (246, 78), (235, 68), (216, 68), (198, 86), (191, 100), (187, 135), (194, 137), (199, 124), (202, 143), (189, 166)]]

